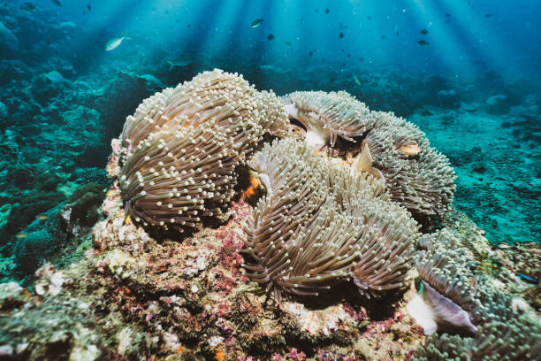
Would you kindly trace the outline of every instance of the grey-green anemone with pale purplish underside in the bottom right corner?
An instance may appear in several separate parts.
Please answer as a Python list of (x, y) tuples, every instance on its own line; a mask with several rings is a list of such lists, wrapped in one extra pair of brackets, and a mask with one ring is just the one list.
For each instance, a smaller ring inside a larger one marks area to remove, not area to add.
[(416, 360), (539, 359), (541, 322), (514, 307), (511, 296), (476, 269), (453, 234), (444, 229), (423, 235), (418, 243), (422, 250), (415, 264), (431, 308), (424, 314), (434, 316), (440, 333), (427, 338)]

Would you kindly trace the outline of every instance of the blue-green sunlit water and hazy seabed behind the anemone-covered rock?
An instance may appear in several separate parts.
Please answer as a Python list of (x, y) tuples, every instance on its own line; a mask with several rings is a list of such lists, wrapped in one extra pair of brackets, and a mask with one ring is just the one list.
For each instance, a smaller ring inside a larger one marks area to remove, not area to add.
[(82, 252), (126, 116), (213, 68), (279, 96), (346, 90), (413, 121), (489, 241), (537, 242), (539, 12), (536, 0), (4, 1), (1, 274)]

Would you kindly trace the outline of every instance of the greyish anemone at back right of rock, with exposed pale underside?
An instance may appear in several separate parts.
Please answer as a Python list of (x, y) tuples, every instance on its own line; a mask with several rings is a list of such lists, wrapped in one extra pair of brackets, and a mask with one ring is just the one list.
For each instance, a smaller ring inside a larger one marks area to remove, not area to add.
[(392, 200), (414, 216), (441, 215), (453, 202), (453, 168), (423, 132), (390, 112), (370, 111), (346, 92), (302, 91), (283, 98), (289, 118), (307, 130), (312, 145), (362, 139), (354, 167), (379, 176)]

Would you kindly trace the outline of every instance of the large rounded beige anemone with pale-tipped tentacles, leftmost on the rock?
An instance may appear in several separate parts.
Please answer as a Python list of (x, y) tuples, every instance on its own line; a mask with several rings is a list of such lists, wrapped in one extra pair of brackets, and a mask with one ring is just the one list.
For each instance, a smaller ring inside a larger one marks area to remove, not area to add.
[(286, 117), (273, 93), (220, 70), (149, 97), (126, 119), (120, 186), (126, 210), (144, 224), (182, 231), (220, 214), (235, 168)]

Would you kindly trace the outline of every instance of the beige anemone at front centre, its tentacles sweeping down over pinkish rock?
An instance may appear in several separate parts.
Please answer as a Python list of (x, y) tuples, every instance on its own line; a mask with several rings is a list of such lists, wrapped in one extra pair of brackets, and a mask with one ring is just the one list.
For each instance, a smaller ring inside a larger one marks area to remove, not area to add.
[(267, 194), (248, 219), (255, 263), (246, 268), (277, 300), (282, 291), (317, 295), (349, 279), (369, 294), (404, 285), (417, 226), (381, 181), (293, 140), (265, 145), (248, 165)]

